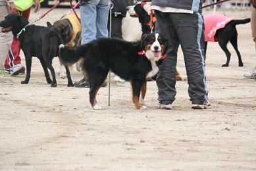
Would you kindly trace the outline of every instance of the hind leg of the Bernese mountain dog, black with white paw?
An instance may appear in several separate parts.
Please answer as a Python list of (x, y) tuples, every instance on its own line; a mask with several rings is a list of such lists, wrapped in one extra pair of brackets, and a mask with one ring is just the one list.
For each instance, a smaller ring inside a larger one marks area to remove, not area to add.
[(105, 73), (88, 72), (88, 79), (90, 83), (90, 91), (89, 91), (90, 103), (91, 103), (91, 107), (93, 107), (93, 109), (95, 110), (102, 109), (101, 106), (97, 105), (96, 95), (101, 85), (105, 82), (106, 78), (107, 78), (107, 72)]

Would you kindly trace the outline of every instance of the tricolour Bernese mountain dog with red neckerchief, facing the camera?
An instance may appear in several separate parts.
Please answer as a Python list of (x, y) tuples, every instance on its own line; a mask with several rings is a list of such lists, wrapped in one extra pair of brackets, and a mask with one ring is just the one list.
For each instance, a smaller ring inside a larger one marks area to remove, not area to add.
[[(155, 33), (145, 36), (141, 43), (103, 38), (75, 49), (63, 45), (59, 55), (66, 64), (84, 59), (83, 68), (90, 82), (90, 103), (93, 109), (102, 109), (97, 105), (96, 95), (109, 70), (131, 82), (132, 100), (136, 109), (146, 109), (143, 99), (147, 78), (157, 74), (157, 61), (166, 53), (166, 47), (166, 39)], [(140, 51), (144, 53), (139, 53)]]

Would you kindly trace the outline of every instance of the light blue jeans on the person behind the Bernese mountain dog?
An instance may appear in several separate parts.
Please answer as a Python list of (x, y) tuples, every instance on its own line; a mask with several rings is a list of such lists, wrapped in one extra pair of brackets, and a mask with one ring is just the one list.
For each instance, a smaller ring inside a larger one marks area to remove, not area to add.
[(88, 4), (80, 5), (82, 44), (109, 36), (107, 30), (109, 2), (109, 0), (91, 0)]

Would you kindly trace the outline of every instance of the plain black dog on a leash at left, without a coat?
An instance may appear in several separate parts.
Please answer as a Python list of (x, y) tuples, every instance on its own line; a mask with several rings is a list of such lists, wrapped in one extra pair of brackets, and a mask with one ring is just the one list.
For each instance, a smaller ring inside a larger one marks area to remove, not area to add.
[[(26, 79), (21, 84), (28, 84), (30, 80), (30, 71), (32, 57), (38, 57), (43, 70), (47, 84), (56, 87), (55, 70), (52, 66), (53, 57), (59, 56), (59, 45), (63, 43), (61, 38), (51, 28), (43, 26), (28, 25), (29, 22), (18, 14), (9, 14), (5, 20), (0, 22), (2, 32), (13, 32), (13, 36), (18, 37), (20, 47), (24, 52), (26, 59)], [(53, 81), (49, 76), (48, 70), (51, 70)], [(73, 86), (68, 67), (65, 66), (68, 74), (68, 86)]]

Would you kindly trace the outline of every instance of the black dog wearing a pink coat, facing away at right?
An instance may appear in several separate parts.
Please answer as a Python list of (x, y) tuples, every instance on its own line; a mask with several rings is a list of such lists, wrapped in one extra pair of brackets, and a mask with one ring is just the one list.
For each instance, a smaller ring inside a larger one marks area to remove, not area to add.
[[(224, 18), (223, 20), (218, 20), (218, 18)], [(237, 24), (246, 24), (250, 22), (250, 18), (246, 18), (244, 20), (232, 20), (232, 18), (227, 18), (226, 16), (222, 16), (219, 14), (207, 15), (204, 16), (205, 22), (205, 57), (207, 50), (207, 41), (210, 40), (210, 36), (212, 40), (210, 41), (218, 41), (221, 49), (226, 54), (226, 64), (222, 64), (222, 66), (228, 66), (230, 62), (230, 51), (226, 45), (230, 41), (232, 46), (234, 47), (236, 54), (238, 55), (238, 66), (243, 66), (242, 58), (240, 52), (238, 51), (238, 31), (236, 30)], [(209, 28), (213, 26), (213, 28)], [(218, 29), (219, 28), (219, 29)], [(208, 32), (209, 30), (209, 32)], [(216, 32), (215, 32), (216, 31)]]

